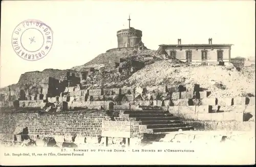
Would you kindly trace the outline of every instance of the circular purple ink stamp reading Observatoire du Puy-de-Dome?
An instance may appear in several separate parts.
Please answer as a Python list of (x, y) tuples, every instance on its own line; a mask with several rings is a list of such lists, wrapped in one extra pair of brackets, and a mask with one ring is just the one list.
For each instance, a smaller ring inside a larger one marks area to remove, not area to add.
[(12, 33), (12, 47), (25, 60), (44, 58), (51, 50), (53, 32), (44, 22), (28, 19), (19, 23)]

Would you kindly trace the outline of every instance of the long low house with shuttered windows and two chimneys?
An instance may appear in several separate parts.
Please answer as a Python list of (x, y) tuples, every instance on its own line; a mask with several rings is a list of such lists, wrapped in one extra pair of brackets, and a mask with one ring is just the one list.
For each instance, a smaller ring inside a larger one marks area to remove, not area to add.
[(232, 44), (212, 44), (212, 39), (208, 39), (208, 44), (178, 44), (159, 45), (157, 53), (165, 54), (167, 58), (176, 58), (182, 62), (196, 64), (220, 64), (220, 62), (230, 62)]

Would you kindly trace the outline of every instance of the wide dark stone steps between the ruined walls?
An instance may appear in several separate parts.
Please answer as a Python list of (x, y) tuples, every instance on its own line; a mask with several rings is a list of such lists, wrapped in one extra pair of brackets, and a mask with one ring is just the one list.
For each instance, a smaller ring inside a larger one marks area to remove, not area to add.
[(135, 121), (140, 121), (141, 125), (146, 125), (146, 128), (153, 133), (179, 131), (179, 129), (194, 130), (194, 127), (161, 107), (139, 106), (139, 108), (140, 110), (125, 110), (124, 114), (129, 115), (129, 118), (135, 118)]

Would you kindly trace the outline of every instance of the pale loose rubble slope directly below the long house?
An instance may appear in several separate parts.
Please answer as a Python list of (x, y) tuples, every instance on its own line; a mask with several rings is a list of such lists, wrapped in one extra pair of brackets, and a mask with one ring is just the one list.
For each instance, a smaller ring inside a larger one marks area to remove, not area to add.
[(172, 85), (194, 89), (195, 84), (211, 92), (209, 97), (255, 96), (253, 68), (226, 68), (225, 66), (196, 66), (179, 64), (172, 60), (157, 61), (134, 73), (128, 81), (136, 86)]

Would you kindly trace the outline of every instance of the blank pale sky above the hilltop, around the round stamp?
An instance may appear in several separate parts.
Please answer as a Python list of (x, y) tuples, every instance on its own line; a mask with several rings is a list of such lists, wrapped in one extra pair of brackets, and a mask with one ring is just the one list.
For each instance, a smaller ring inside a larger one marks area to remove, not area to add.
[[(69, 69), (117, 47), (116, 32), (142, 31), (150, 49), (160, 44), (231, 43), (231, 57), (255, 55), (254, 1), (4, 1), (1, 19), (0, 87), (28, 71)], [(11, 37), (17, 24), (37, 19), (53, 30), (48, 55), (30, 62), (16, 55)]]

